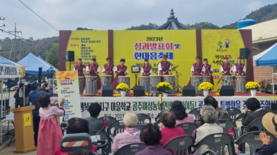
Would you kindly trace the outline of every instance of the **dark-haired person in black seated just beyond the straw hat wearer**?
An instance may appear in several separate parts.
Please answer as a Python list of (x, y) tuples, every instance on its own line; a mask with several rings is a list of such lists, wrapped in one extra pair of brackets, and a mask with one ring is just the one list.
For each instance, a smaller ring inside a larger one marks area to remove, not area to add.
[[(242, 125), (247, 126), (251, 121), (255, 120), (256, 118), (260, 118), (267, 114), (269, 110), (262, 109), (260, 107), (260, 101), (256, 98), (249, 98), (245, 102), (245, 109), (242, 116)], [(248, 113), (248, 110), (251, 110), (251, 113)], [(255, 129), (250, 129), (249, 131), (255, 131)]]

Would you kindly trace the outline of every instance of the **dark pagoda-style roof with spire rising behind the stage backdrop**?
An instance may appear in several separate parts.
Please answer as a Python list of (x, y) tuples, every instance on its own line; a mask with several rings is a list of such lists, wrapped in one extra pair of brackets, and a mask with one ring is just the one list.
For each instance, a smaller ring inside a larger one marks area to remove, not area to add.
[(155, 28), (154, 30), (191, 30), (191, 29), (193, 28), (190, 28), (187, 25), (180, 23), (177, 20), (177, 18), (175, 18), (173, 9), (171, 9), (170, 17), (168, 17), (168, 21), (166, 21), (166, 23), (159, 26), (158, 28)]

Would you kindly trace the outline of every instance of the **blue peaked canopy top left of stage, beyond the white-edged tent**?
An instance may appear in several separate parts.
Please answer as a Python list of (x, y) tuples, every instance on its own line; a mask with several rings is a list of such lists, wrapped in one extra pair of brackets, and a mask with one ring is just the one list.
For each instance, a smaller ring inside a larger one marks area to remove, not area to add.
[(31, 52), (17, 63), (19, 63), (19, 65), (24, 65), (26, 73), (32, 75), (39, 74), (39, 68), (42, 68), (42, 75), (44, 76), (51, 73), (51, 71), (58, 71), (53, 65), (47, 63), (42, 58), (39, 59)]

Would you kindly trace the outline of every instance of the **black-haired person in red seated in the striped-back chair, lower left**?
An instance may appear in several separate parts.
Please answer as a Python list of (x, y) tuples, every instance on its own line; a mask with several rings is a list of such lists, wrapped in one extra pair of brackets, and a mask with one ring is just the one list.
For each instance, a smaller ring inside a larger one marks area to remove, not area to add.
[[(84, 120), (82, 118), (70, 118), (69, 126), (66, 128), (66, 134), (78, 134), (78, 133), (89, 134), (89, 123), (87, 122), (87, 120)], [(97, 152), (97, 147), (92, 146), (91, 152)], [(54, 155), (60, 155), (60, 154), (69, 154), (69, 152), (61, 152), (60, 145), (58, 145)]]

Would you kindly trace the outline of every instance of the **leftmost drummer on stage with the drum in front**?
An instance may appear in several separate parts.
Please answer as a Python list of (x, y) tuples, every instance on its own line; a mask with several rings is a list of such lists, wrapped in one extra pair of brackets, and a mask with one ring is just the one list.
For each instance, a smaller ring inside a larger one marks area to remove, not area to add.
[(78, 72), (78, 83), (79, 83), (79, 92), (82, 94), (84, 92), (84, 70), (86, 66), (82, 64), (82, 59), (78, 59), (77, 65), (74, 66), (74, 70)]

